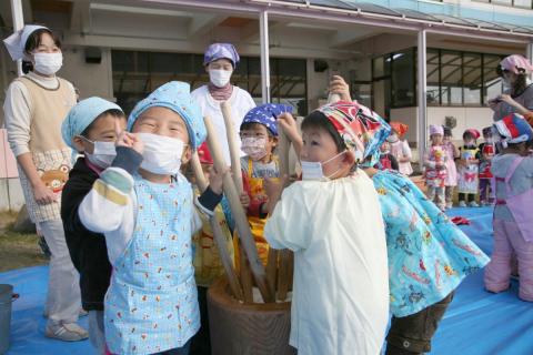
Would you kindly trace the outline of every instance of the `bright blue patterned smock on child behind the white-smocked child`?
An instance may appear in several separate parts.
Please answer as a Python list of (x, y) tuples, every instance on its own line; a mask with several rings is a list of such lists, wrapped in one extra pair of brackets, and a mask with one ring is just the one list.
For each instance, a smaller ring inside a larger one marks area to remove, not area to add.
[(489, 257), (409, 178), (382, 171), (372, 180), (385, 222), (395, 316), (443, 300), (466, 275), (486, 265)]

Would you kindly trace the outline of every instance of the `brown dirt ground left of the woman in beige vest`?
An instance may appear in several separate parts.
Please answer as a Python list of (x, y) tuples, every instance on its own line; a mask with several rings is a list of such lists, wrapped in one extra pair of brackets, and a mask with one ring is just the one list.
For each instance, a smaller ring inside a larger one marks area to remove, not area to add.
[(0, 212), (0, 272), (46, 264), (47, 257), (37, 244), (37, 234), (11, 230), (17, 214)]

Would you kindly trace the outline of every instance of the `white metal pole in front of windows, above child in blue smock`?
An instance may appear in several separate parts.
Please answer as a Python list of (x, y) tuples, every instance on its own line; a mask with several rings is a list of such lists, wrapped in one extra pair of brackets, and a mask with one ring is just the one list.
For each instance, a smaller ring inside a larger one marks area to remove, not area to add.
[[(419, 164), (422, 164), (428, 144), (428, 82), (426, 82), (426, 48), (425, 48), (425, 30), (419, 31), (418, 43), (418, 88), (419, 88), (419, 120), (416, 146), (419, 149)], [(421, 165), (422, 166), (422, 165)]]

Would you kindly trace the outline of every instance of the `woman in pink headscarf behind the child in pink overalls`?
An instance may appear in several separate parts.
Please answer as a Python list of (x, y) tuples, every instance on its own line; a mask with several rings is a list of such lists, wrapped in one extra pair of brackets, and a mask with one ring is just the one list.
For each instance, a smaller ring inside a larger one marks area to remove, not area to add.
[(511, 113), (526, 114), (533, 110), (533, 85), (527, 78), (533, 65), (520, 54), (509, 55), (500, 62), (497, 73), (503, 79), (504, 93), (489, 100), (494, 111), (493, 120), (500, 121)]

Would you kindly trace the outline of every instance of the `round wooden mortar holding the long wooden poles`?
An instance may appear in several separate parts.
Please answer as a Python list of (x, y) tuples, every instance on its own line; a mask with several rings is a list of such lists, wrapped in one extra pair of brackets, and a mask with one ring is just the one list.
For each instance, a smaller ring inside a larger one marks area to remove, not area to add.
[(240, 303), (225, 277), (208, 291), (213, 355), (294, 355), (289, 345), (291, 303)]

